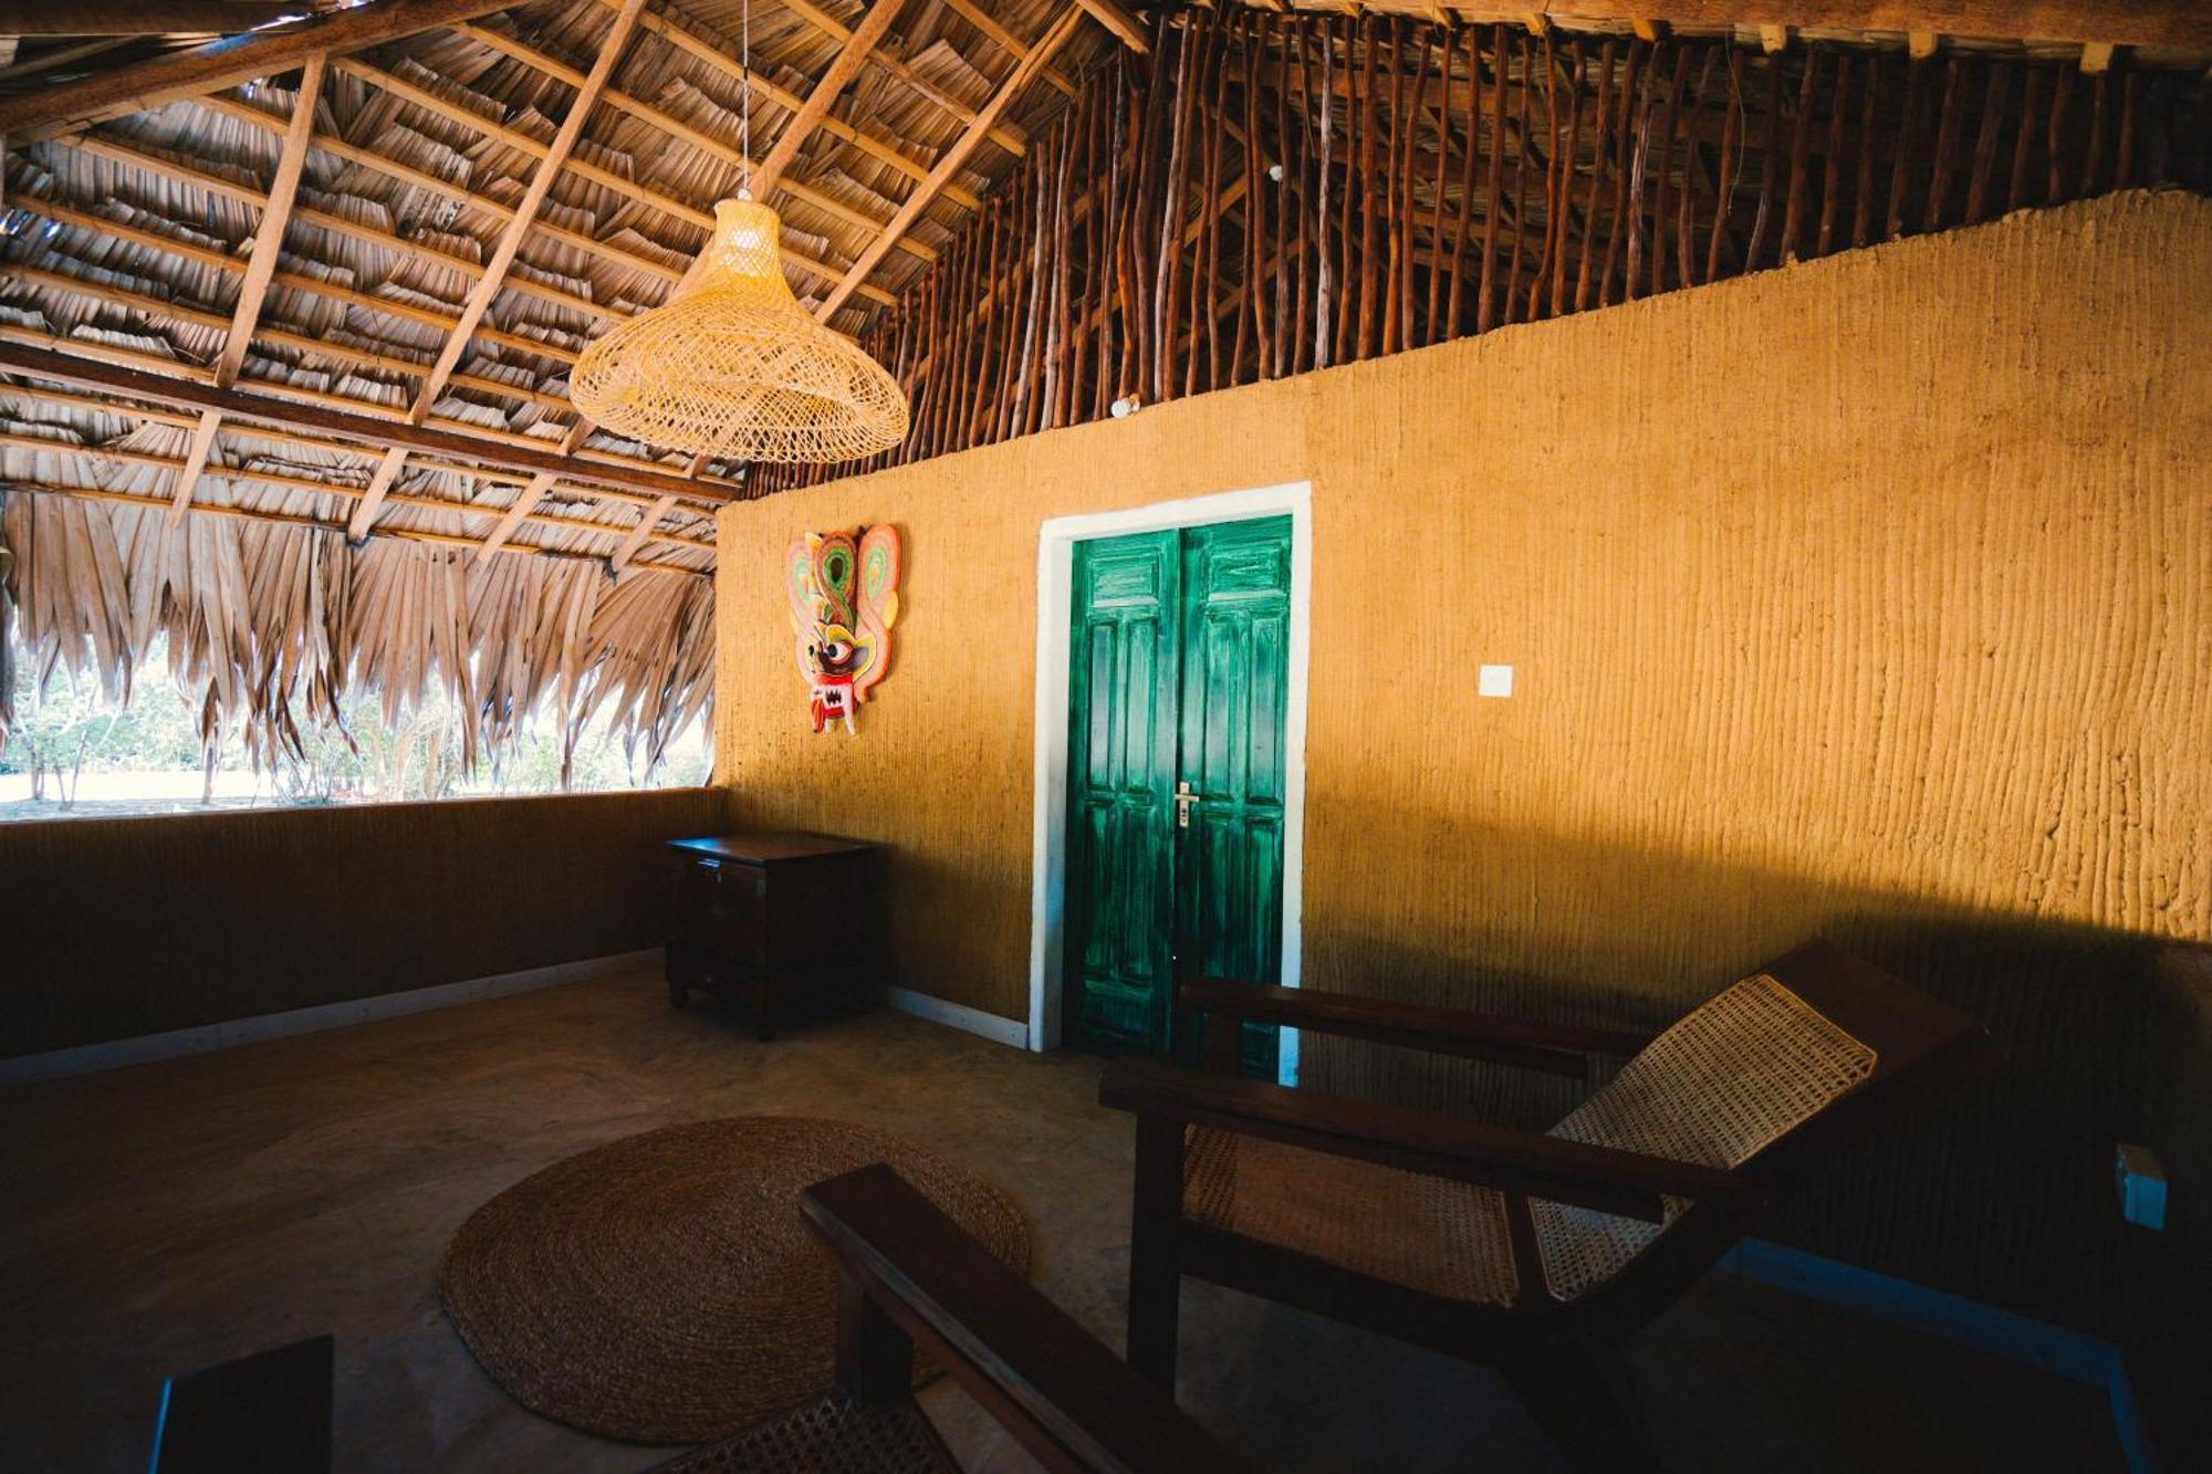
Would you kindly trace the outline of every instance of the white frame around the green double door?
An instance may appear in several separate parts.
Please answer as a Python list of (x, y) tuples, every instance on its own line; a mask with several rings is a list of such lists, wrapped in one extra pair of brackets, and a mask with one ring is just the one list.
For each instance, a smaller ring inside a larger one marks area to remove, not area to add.
[[(1170, 527), (1290, 513), (1290, 688), (1283, 730), (1283, 987), (1298, 987), (1305, 912), (1305, 682), (1314, 598), (1314, 482), (1051, 518), (1037, 531), (1037, 764), (1029, 863), (1029, 1047), (1060, 1047), (1060, 958), (1068, 876), (1068, 620), (1075, 544)], [(1298, 1036), (1283, 1029), (1281, 1078), (1296, 1082)]]

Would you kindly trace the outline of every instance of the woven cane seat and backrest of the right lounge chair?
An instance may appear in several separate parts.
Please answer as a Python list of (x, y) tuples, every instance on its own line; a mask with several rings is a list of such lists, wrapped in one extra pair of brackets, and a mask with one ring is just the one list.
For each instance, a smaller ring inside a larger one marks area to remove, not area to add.
[[(1703, 1166), (1739, 1166), (1874, 1073), (1874, 1049), (1767, 974), (1743, 978), (1644, 1047), (1551, 1135)], [(1504, 1197), (1261, 1138), (1190, 1127), (1183, 1215), (1409, 1290), (1511, 1308), (1520, 1297)], [(1613, 1279), (1666, 1222), (1531, 1200), (1544, 1286), (1573, 1301)]]

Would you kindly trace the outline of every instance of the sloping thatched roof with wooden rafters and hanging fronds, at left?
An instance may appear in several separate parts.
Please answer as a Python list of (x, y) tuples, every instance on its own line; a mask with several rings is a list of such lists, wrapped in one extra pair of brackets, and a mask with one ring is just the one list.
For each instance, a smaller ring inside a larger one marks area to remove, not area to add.
[[(1048, 75), (1024, 66), (1020, 38), (1044, 35), (1064, 9), (916, 4), (867, 49), (827, 113), (792, 135), (770, 197), (801, 301), (838, 297), (827, 321), (858, 332), (929, 270), (1035, 117), (1073, 91), (1062, 69), (1113, 44), (1093, 31)], [(754, 164), (860, 11), (754, 4)], [(0, 381), (0, 547), (35, 660), (122, 695), (166, 631), (208, 735), (243, 730), (257, 752), (332, 713), (347, 684), (403, 702), (440, 682), (476, 715), (480, 744), (540, 697), (571, 726), (613, 710), (655, 750), (699, 715), (710, 516), (743, 494), (743, 469), (580, 423), (566, 374), (611, 321), (666, 297), (712, 204), (737, 190), (739, 31), (737, 0), (522, 4), (111, 108), (91, 126), (18, 131), (0, 347), (252, 396), (215, 414), (104, 385)], [(55, 38), (18, 44), (0, 89), (38, 102), (188, 55), (184, 38)], [(998, 100), (1009, 82), (1020, 91)], [(303, 91), (312, 126), (296, 128)], [(580, 97), (584, 117), (562, 137)], [(303, 137), (288, 148), (288, 133)], [(880, 261), (856, 270), (872, 248)], [(562, 456), (562, 471), (380, 454), (303, 429), (294, 416), (314, 407), (535, 447)], [(650, 489), (617, 480), (648, 471)], [(0, 733), (4, 722), (0, 710)]]

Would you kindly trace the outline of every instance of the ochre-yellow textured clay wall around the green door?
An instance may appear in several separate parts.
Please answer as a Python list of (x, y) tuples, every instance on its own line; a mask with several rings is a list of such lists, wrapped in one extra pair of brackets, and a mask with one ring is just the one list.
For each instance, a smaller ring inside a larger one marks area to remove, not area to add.
[[(894, 843), (902, 980), (1022, 1016), (1037, 525), (1310, 478), (1307, 985), (1663, 1020), (1827, 932), (2011, 1062), (1787, 1237), (2112, 1326), (2148, 954), (2212, 938), (2208, 323), (2212, 204), (2121, 195), (734, 507), (719, 770)], [(876, 520), (894, 671), (812, 737), (776, 551)]]

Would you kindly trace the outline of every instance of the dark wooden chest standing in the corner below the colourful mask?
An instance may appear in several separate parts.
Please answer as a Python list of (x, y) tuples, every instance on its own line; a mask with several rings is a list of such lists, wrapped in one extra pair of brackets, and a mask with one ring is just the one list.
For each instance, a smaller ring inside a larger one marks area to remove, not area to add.
[(834, 834), (712, 834), (670, 839), (677, 903), (668, 936), (668, 998), (692, 989), (752, 1003), (770, 1038), (799, 1000), (858, 1007), (889, 983), (883, 848)]

